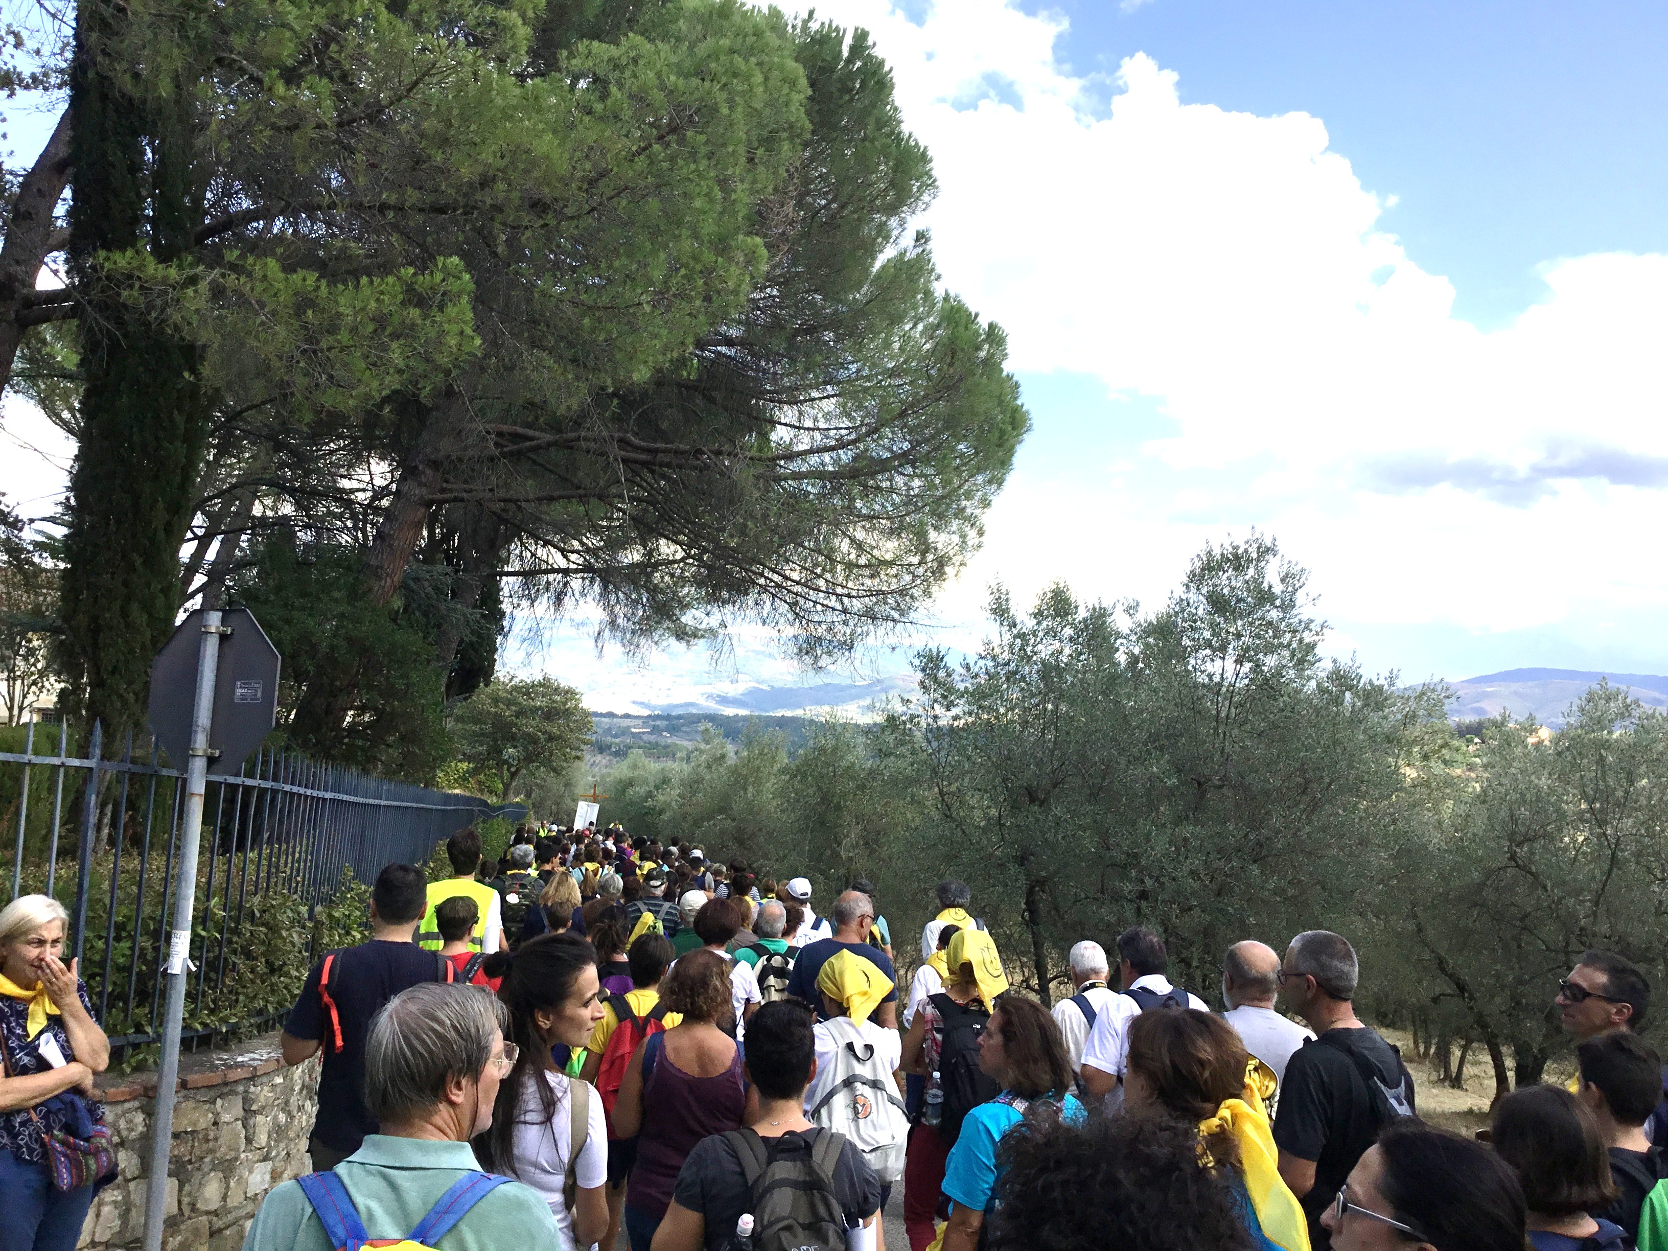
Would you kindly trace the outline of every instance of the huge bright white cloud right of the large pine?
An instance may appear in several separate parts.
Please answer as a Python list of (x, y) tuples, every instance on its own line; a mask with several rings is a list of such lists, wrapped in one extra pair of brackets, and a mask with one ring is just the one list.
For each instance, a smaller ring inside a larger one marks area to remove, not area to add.
[[(817, 13), (892, 63), (941, 183), (944, 280), (1007, 329), (1012, 367), (1093, 374), (1176, 424), (1123, 469), (1016, 474), (947, 617), (997, 577), (1153, 600), (1253, 524), (1341, 620), (1580, 632), (1668, 605), (1630, 540), (1668, 484), (1668, 257), (1550, 260), (1545, 300), (1485, 334), (1381, 227), (1391, 197), (1319, 118), (1183, 103), (1146, 55), (1113, 83), (1073, 77), (1063, 18), (1001, 0)], [(1002, 100), (979, 88), (996, 80)]]

